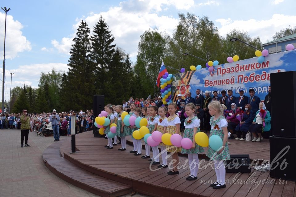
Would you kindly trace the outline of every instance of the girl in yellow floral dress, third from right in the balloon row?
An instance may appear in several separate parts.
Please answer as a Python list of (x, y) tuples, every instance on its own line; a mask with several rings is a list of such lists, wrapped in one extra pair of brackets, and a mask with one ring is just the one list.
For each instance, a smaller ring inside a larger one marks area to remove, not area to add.
[[(167, 133), (173, 135), (175, 133), (180, 134), (180, 118), (179, 116), (176, 115), (176, 111), (177, 111), (177, 105), (175, 103), (170, 103), (168, 105), (168, 112), (170, 114), (170, 116), (168, 117), (167, 121), (168, 121), (168, 126), (167, 126)], [(177, 148), (174, 146), (167, 146), (167, 148), (170, 148), (168, 150), (168, 152), (174, 152), (172, 153), (172, 157), (173, 159), (176, 160), (176, 166), (174, 167), (174, 169), (170, 170), (167, 172), (168, 175), (176, 175), (179, 174), (178, 171), (178, 163), (179, 163), (179, 157), (178, 157), (178, 152), (181, 152), (181, 148)]]

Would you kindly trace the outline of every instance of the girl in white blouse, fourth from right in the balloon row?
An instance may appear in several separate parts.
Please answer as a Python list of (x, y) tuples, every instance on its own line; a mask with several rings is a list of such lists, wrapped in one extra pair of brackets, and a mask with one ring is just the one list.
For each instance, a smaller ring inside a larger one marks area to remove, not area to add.
[[(165, 108), (165, 107), (158, 108), (159, 120), (158, 120), (156, 131), (159, 131), (162, 134), (165, 134), (167, 131), (168, 123), (167, 123), (166, 114), (167, 114), (167, 108)], [(158, 168), (165, 168), (165, 167), (167, 167), (166, 145), (164, 143), (160, 143), (159, 146), (160, 146), (160, 151), (161, 151), (162, 164), (159, 165)]]

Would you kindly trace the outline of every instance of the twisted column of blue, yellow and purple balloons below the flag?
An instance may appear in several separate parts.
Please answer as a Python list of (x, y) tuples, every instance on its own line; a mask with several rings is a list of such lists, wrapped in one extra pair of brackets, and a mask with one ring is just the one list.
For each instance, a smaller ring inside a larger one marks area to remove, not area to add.
[(168, 74), (167, 72), (162, 75), (160, 79), (160, 87), (161, 87), (161, 98), (163, 104), (170, 104), (172, 103), (172, 89), (171, 89), (171, 82), (172, 82), (172, 74)]

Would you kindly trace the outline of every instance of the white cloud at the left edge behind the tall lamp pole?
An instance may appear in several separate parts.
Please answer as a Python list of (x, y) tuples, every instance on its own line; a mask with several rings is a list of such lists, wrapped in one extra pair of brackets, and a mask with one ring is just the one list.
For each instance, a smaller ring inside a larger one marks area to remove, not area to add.
[[(8, 12), (9, 13), (9, 12)], [(3, 54), (4, 46), (4, 30), (5, 30), (5, 13), (0, 13), (0, 54)], [(6, 59), (13, 59), (19, 52), (31, 50), (31, 43), (23, 36), (23, 25), (19, 21), (15, 21), (11, 15), (7, 14), (6, 19)], [(3, 56), (1, 55), (3, 58)]]

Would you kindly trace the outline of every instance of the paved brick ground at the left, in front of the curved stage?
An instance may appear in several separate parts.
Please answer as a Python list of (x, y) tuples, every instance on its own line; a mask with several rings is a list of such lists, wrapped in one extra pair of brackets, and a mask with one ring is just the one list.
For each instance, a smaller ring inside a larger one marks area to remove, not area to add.
[[(54, 143), (54, 138), (35, 135), (34, 131), (29, 133), (31, 147), (21, 148), (20, 130), (0, 130), (1, 197), (98, 196), (52, 174), (43, 162), (42, 152)], [(69, 137), (61, 136), (60, 140), (65, 138)]]

